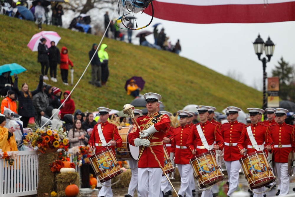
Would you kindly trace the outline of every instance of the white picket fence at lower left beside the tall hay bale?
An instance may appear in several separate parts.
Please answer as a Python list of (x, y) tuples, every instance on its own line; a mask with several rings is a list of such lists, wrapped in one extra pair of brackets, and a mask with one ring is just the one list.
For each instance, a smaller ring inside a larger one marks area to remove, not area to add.
[[(1, 152), (1, 151), (0, 151)], [(19, 151), (18, 159), (10, 166), (4, 159), (0, 159), (0, 197), (17, 197), (37, 194), (38, 186), (38, 152)], [(75, 155), (71, 153), (70, 162), (73, 162)], [(76, 166), (76, 172), (80, 168)], [(101, 184), (97, 183), (98, 187)]]

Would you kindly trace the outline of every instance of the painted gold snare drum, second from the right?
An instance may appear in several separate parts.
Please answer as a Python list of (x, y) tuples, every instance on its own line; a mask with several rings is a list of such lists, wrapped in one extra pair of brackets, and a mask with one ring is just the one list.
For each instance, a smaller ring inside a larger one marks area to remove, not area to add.
[(215, 153), (212, 151), (194, 156), (189, 163), (193, 167), (200, 188), (209, 188), (224, 179), (224, 174), (222, 174), (221, 168), (216, 162)]

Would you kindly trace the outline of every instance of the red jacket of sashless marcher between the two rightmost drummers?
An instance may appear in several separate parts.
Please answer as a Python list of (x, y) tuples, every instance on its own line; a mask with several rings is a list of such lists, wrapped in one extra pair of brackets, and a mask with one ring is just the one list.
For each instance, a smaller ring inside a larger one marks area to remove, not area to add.
[[(237, 143), (240, 139), (240, 136), (242, 135), (244, 126), (245, 124), (238, 121), (224, 123), (221, 126), (221, 135), (223, 136), (224, 142), (227, 142), (229, 144)], [(240, 150), (237, 145), (227, 146), (226, 144), (224, 144), (224, 161), (236, 161), (239, 160), (241, 157), (242, 155), (240, 154)]]

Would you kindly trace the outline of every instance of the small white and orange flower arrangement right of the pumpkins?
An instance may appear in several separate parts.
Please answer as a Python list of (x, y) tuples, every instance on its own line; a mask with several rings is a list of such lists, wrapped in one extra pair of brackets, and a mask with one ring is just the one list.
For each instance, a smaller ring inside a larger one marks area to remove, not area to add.
[(89, 157), (93, 154), (89, 146), (74, 146), (72, 148), (73, 155), (76, 157), (73, 158), (73, 161), (81, 167), (82, 164), (90, 163)]

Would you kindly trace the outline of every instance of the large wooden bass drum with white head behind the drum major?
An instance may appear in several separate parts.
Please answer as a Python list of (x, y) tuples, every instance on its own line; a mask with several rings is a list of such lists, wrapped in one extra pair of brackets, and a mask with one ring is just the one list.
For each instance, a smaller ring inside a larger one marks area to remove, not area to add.
[(132, 146), (128, 142), (128, 134), (133, 126), (117, 126), (119, 135), (122, 138), (123, 146), (115, 148), (115, 155), (118, 160), (138, 160), (139, 146)]

